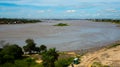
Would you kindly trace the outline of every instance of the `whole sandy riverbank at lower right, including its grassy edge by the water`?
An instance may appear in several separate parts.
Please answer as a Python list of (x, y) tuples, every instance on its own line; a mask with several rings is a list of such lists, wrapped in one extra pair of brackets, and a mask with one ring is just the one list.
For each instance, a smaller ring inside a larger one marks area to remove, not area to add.
[(81, 59), (80, 64), (74, 65), (74, 67), (91, 67), (97, 64), (98, 64), (97, 67), (101, 66), (119, 67), (120, 41), (113, 42), (93, 52), (87, 52), (80, 59)]

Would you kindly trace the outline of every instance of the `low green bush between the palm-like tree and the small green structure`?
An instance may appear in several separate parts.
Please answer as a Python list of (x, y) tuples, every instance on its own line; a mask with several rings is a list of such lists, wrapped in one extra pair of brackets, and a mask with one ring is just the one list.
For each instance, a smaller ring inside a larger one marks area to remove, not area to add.
[(55, 67), (68, 67), (73, 62), (73, 58), (61, 58), (55, 62)]

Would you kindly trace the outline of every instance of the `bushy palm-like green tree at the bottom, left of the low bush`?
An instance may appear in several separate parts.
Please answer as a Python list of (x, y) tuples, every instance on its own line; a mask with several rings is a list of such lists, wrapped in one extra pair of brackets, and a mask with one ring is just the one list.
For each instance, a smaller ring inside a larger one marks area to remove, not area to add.
[(59, 54), (55, 48), (51, 48), (48, 51), (42, 53), (42, 60), (44, 67), (55, 67), (54, 62), (58, 59)]

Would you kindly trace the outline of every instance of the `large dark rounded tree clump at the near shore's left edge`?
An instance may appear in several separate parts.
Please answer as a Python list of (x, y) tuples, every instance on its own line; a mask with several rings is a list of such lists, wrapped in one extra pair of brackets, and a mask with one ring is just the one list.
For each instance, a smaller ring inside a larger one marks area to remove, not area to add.
[(0, 64), (6, 62), (14, 62), (15, 59), (21, 58), (23, 55), (21, 47), (16, 44), (6, 45), (0, 51)]

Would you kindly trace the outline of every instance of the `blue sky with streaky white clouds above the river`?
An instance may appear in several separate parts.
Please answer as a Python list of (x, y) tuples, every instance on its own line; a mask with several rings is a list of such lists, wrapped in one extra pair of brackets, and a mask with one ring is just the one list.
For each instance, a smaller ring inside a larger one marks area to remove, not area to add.
[(120, 19), (120, 0), (0, 0), (0, 18)]

